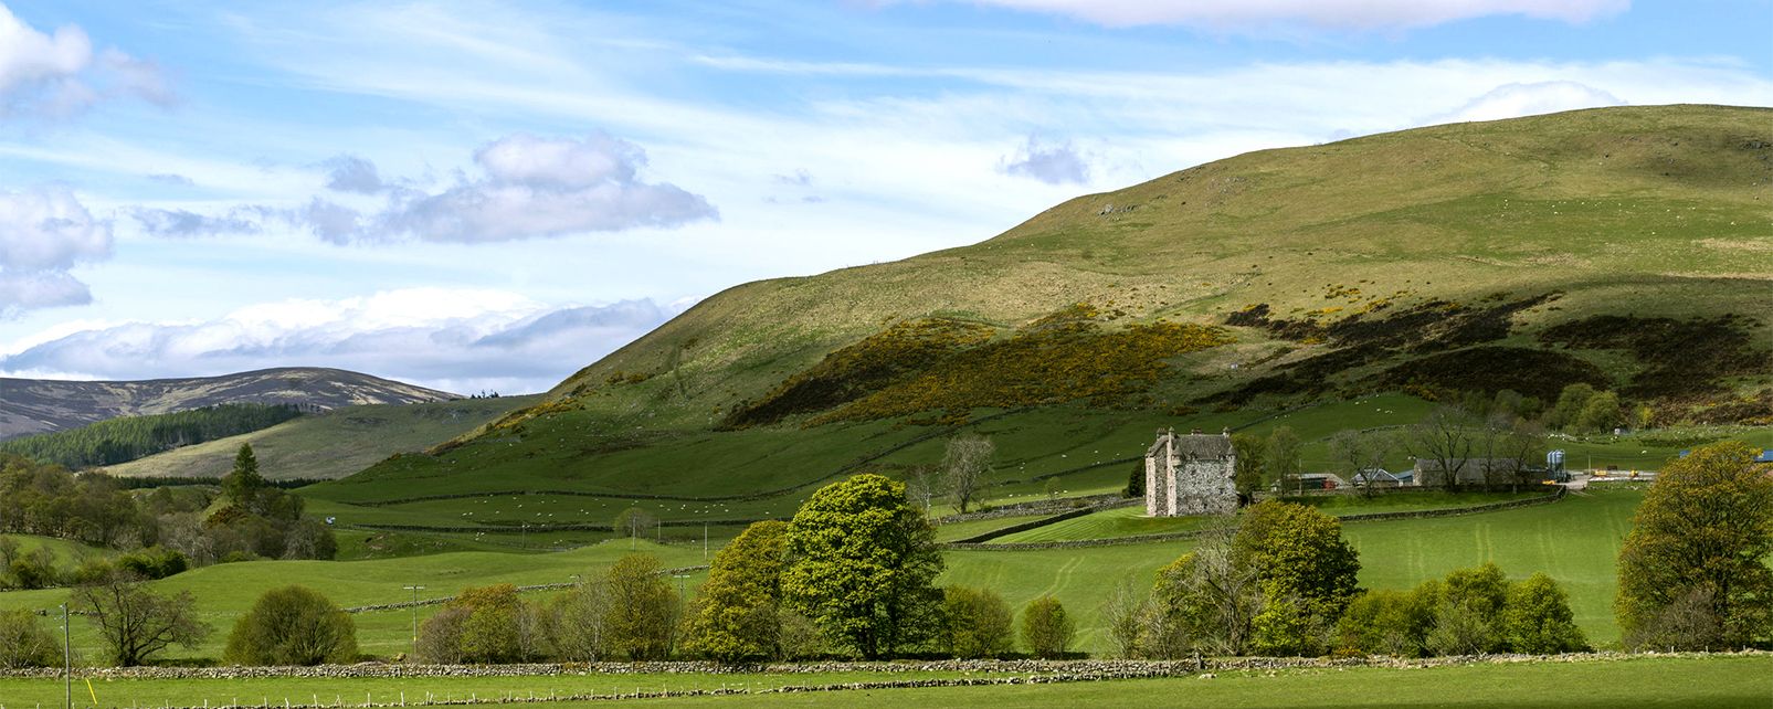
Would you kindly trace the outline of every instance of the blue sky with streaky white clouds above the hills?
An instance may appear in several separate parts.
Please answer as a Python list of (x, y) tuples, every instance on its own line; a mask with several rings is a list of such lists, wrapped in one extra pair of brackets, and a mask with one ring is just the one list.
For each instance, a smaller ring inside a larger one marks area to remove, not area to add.
[(1773, 106), (1773, 0), (0, 0), (0, 376), (539, 392), (1239, 152)]

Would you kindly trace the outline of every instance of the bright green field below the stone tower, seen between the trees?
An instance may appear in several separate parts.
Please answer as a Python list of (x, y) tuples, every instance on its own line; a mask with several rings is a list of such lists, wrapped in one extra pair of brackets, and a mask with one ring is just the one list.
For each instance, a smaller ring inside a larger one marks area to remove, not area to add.
[[(1353, 521), (1342, 534), (1360, 551), (1365, 588), (1410, 588), (1452, 569), (1496, 562), (1511, 578), (1544, 571), (1569, 594), (1594, 645), (1619, 640), (1613, 624), (1615, 558), (1642, 487), (1571, 495), (1564, 502), (1456, 518)], [(1186, 518), (1184, 518), (1186, 519)], [(1115, 583), (1151, 587), (1158, 567), (1190, 541), (1074, 549), (949, 551), (941, 583), (996, 590), (1018, 612), (1051, 594), (1078, 619), (1078, 647), (1106, 652), (1101, 604)]]

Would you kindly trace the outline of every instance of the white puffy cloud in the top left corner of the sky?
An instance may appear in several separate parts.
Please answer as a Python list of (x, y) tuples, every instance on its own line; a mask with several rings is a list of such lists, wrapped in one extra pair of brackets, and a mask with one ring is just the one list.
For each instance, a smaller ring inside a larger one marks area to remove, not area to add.
[(172, 103), (154, 62), (110, 48), (94, 55), (80, 27), (44, 34), (0, 5), (0, 117), (67, 117), (115, 96)]

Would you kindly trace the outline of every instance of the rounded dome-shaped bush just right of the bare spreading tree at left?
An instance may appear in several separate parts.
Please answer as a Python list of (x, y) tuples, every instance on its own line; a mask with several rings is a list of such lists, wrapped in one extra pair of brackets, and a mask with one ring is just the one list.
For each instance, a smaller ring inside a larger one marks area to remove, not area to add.
[(314, 590), (266, 590), (234, 622), (223, 658), (236, 665), (278, 666), (356, 661), (356, 624)]

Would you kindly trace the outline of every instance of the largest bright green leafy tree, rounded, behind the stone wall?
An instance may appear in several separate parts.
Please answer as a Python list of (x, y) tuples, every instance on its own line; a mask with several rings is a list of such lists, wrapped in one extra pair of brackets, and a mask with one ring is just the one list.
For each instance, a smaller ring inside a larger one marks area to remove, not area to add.
[(881, 475), (812, 493), (789, 525), (782, 592), (828, 638), (876, 659), (927, 640), (940, 626), (936, 532)]

